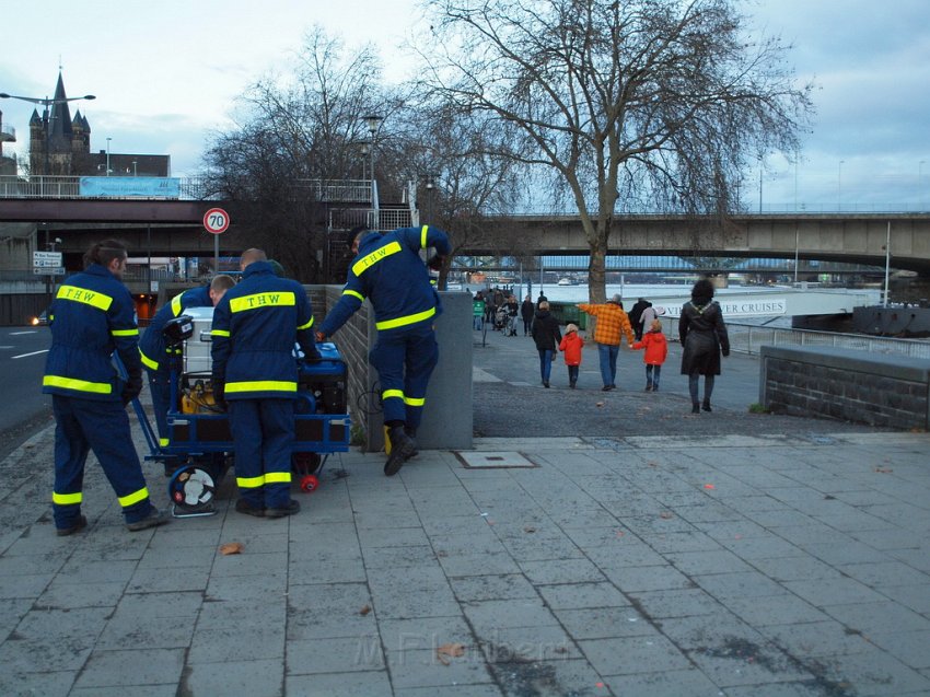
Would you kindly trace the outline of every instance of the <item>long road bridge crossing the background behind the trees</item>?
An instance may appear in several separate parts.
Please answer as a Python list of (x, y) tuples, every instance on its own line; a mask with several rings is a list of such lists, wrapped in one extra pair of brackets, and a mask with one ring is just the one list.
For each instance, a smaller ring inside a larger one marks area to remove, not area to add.
[[(53, 195), (48, 186), (23, 196), (4, 188), (4, 178), (8, 177), (0, 177), (0, 224), (36, 223), (46, 235), (62, 240), (58, 248), (66, 254), (83, 253), (103, 235), (118, 235), (131, 248), (148, 252), (150, 256), (212, 254), (213, 236), (202, 229), (202, 217), (208, 208), (222, 206), (222, 201), (89, 199), (75, 191), (62, 194), (61, 187)], [(376, 189), (370, 181), (311, 182), (307, 186), (315, 187), (312, 195), (322, 202), (370, 208), (372, 200), (376, 200)], [(196, 187), (187, 185), (182, 190), (196, 190)], [(374, 213), (373, 220), (377, 220), (380, 213), (391, 212), (392, 220), (381, 225), (385, 228), (416, 224), (417, 221), (416, 210), (370, 212)], [(510, 234), (504, 235), (504, 231)], [(483, 241), (463, 248), (462, 254), (512, 255), (512, 248), (497, 248), (500, 243), (495, 240), (513, 239), (520, 241), (527, 256), (589, 253), (578, 214), (500, 217), (492, 219), (489, 233)], [(248, 241), (242, 237), (233, 219), (230, 231), (221, 235), (221, 254), (235, 255), (248, 246)], [(884, 266), (888, 242), (893, 268), (930, 276), (930, 212), (740, 213), (722, 224), (717, 219), (694, 216), (624, 214), (614, 220), (609, 253), (800, 258)]]

